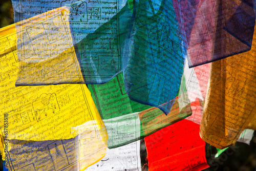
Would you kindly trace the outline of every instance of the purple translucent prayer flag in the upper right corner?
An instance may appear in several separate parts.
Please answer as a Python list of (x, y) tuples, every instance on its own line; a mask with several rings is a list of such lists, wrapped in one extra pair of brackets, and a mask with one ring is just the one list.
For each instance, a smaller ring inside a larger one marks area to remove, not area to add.
[(253, 0), (174, 0), (189, 67), (249, 51), (255, 24)]

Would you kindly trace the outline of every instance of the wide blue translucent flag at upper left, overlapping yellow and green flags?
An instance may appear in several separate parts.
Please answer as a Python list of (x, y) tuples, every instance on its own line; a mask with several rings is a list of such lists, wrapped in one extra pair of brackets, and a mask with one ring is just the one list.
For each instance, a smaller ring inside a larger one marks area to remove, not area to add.
[(122, 41), (132, 15), (126, 1), (12, 4), (22, 61), (17, 86), (104, 83), (122, 71)]

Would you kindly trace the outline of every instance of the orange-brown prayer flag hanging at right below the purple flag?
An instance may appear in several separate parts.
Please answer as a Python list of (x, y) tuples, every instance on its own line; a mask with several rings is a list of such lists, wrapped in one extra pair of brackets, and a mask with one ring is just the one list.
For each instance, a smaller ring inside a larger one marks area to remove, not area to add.
[(220, 149), (234, 145), (245, 129), (256, 130), (256, 31), (250, 51), (212, 62), (202, 139)]

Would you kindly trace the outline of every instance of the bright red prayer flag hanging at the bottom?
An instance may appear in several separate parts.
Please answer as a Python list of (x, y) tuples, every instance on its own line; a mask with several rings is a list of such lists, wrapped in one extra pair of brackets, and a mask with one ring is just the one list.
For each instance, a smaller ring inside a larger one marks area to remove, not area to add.
[(181, 120), (145, 137), (148, 170), (203, 170), (209, 167), (199, 124)]

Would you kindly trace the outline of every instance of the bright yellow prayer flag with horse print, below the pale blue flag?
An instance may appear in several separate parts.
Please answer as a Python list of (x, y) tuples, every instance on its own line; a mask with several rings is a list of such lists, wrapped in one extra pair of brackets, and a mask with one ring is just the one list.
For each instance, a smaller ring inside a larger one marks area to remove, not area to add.
[[(107, 139), (104, 124), (85, 84), (15, 87), (18, 71), (15, 25), (0, 30), (0, 44), (0, 123), (4, 123), (4, 114), (7, 114), (7, 139), (74, 138), (78, 133), (73, 127), (88, 121), (95, 121), (95, 127), (101, 130), (100, 136)], [(4, 131), (4, 124), (0, 126)]]

